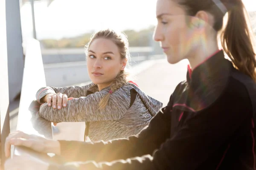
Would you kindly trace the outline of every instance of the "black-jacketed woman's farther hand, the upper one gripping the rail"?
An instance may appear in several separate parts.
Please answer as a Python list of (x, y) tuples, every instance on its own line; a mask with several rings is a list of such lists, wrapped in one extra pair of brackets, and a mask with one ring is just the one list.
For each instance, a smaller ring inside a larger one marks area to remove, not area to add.
[(61, 146), (58, 141), (44, 139), (36, 135), (28, 135), (21, 131), (10, 133), (6, 138), (6, 157), (10, 156), (11, 145), (29, 147), (41, 153), (55, 153), (57, 155), (61, 154)]

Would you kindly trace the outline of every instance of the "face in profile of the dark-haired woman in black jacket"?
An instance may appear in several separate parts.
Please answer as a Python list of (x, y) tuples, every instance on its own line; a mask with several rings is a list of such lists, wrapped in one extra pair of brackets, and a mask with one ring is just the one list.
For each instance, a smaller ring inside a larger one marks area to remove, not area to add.
[(168, 62), (175, 64), (187, 58), (197, 44), (195, 26), (189, 24), (192, 17), (172, 0), (157, 0), (156, 15), (154, 40), (160, 42)]

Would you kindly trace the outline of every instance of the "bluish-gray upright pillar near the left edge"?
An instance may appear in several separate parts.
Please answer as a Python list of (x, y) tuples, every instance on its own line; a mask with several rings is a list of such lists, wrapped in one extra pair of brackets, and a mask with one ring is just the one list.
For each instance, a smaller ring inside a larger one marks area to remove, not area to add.
[(24, 59), (20, 23), (20, 2), (19, 0), (5, 1), (9, 74), (9, 101), (11, 102), (18, 94), (20, 94), (21, 91)]

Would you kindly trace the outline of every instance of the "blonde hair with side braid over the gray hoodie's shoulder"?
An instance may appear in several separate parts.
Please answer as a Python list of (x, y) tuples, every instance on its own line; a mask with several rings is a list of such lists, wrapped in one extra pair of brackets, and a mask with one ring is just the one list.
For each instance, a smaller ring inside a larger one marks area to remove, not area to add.
[[(127, 59), (127, 65), (126, 68), (129, 66), (130, 61), (130, 53), (129, 53), (129, 43), (128, 38), (123, 32), (116, 32), (111, 29), (104, 29), (97, 31), (90, 39), (90, 42), (88, 43), (86, 49), (90, 47), (90, 44), (93, 42), (93, 40), (96, 40), (98, 38), (105, 38), (108, 40), (112, 40), (117, 47), (119, 48), (120, 56), (122, 59)], [(86, 52), (87, 55), (87, 52)], [(120, 73), (116, 76), (115, 79), (113, 79), (113, 83), (110, 87), (110, 92), (105, 95), (102, 100), (99, 102), (99, 109), (104, 109), (106, 105), (108, 104), (108, 100), (110, 95), (122, 87), (127, 82), (128, 72), (126, 69), (124, 71), (120, 71)]]

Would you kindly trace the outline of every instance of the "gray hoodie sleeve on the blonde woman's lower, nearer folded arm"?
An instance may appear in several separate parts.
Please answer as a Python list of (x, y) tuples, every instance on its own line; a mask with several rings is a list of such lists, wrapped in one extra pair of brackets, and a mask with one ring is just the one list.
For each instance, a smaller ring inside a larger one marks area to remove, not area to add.
[(124, 97), (119, 88), (110, 95), (108, 105), (99, 110), (99, 102), (108, 94), (108, 89), (67, 101), (67, 107), (54, 109), (44, 103), (40, 107), (40, 116), (51, 122), (94, 122), (118, 120), (128, 110), (130, 97)]

